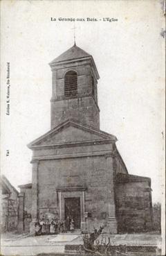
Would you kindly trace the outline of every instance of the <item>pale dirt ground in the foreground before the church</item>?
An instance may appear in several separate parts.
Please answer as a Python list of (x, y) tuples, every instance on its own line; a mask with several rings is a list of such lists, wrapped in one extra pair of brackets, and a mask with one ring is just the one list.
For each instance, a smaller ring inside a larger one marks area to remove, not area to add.
[[(115, 245), (151, 245), (161, 247), (160, 234), (101, 234), (100, 239), (110, 240)], [(39, 253), (64, 253), (66, 244), (83, 244), (82, 234), (66, 233), (30, 237), (28, 234), (8, 232), (1, 235), (1, 254), (33, 256)]]

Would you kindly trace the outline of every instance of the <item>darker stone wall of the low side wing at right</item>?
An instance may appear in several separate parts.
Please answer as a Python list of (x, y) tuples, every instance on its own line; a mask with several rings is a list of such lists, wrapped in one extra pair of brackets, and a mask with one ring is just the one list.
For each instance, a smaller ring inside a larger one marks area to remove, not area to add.
[[(127, 175), (129, 176), (129, 175)], [(122, 180), (116, 185), (116, 218), (118, 232), (147, 231), (152, 225), (149, 179)]]

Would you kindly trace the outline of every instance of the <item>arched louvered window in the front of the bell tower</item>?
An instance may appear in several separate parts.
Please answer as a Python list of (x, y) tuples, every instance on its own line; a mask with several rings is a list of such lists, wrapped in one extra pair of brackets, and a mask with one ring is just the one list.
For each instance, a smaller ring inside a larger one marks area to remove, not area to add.
[(68, 71), (64, 76), (64, 96), (77, 95), (77, 73), (75, 71)]

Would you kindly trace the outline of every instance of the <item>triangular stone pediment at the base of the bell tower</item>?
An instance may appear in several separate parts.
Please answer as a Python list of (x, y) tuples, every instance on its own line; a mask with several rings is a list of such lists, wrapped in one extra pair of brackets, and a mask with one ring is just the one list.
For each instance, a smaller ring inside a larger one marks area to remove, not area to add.
[(99, 140), (114, 140), (116, 137), (104, 133), (101, 130), (95, 130), (88, 126), (83, 126), (80, 123), (74, 121), (66, 121), (50, 130), (48, 133), (35, 139), (35, 141), (28, 144), (29, 148), (35, 148), (38, 146), (51, 146), (58, 144), (70, 144), (75, 142), (93, 142)]

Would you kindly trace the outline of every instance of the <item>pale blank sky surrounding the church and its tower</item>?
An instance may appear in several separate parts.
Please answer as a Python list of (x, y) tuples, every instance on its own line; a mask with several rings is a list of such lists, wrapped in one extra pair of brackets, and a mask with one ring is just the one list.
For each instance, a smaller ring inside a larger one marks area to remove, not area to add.
[[(1, 172), (12, 185), (31, 182), (27, 144), (50, 129), (48, 62), (76, 44), (95, 60), (100, 80), (100, 128), (116, 135), (129, 173), (151, 178), (161, 200), (163, 155), (164, 26), (159, 1), (1, 2)], [(50, 18), (55, 17), (56, 22)], [(118, 19), (104, 22), (103, 18)], [(101, 19), (101, 21), (100, 21)], [(10, 116), (6, 115), (10, 62)], [(9, 150), (9, 156), (6, 156)]]

